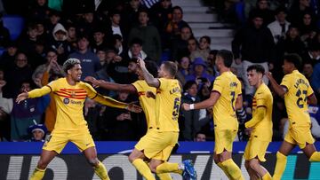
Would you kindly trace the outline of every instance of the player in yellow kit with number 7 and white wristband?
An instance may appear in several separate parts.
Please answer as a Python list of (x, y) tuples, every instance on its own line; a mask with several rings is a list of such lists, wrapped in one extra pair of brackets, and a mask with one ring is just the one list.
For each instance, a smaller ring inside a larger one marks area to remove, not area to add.
[(182, 107), (188, 111), (213, 106), (214, 161), (229, 179), (244, 179), (240, 168), (231, 157), (232, 143), (236, 138), (239, 125), (236, 119), (236, 109), (242, 107), (241, 83), (236, 75), (230, 72), (232, 61), (231, 51), (218, 51), (215, 65), (220, 76), (213, 83), (210, 98), (196, 104), (183, 104)]

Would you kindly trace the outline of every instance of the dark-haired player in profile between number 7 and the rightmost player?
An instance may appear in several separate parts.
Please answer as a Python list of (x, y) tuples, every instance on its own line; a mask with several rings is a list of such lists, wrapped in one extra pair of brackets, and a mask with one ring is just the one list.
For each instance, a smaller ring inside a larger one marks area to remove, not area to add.
[(249, 84), (256, 91), (252, 99), (252, 119), (245, 122), (250, 139), (244, 150), (244, 165), (251, 179), (271, 180), (272, 177), (260, 161), (266, 161), (265, 154), (272, 140), (272, 103), (273, 97), (268, 86), (262, 81), (265, 70), (260, 65), (247, 69)]

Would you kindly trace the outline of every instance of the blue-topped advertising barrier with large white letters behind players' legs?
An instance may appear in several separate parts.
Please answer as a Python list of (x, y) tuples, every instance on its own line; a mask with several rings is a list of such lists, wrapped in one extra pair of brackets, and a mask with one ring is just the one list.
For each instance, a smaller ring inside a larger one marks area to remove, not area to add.
[[(132, 151), (135, 142), (96, 142), (99, 159), (108, 168), (111, 179), (116, 180), (141, 180), (142, 177), (132, 167), (128, 160), (128, 153)], [(212, 142), (193, 143), (181, 142), (177, 153), (173, 154), (169, 161), (180, 162), (191, 159), (195, 163), (199, 180), (228, 179), (220, 168), (212, 160)], [(273, 174), (276, 166), (276, 150), (280, 143), (271, 143), (268, 147), (267, 162), (263, 163), (265, 168)], [(36, 167), (41, 143), (0, 143), (0, 179), (24, 180)], [(233, 159), (241, 168), (244, 178), (249, 176), (244, 168), (245, 143), (234, 144)], [(316, 142), (320, 149), (320, 142)], [(288, 156), (287, 167), (283, 179), (320, 179), (320, 162), (309, 163), (307, 157), (299, 149), (294, 149)], [(172, 174), (174, 180), (182, 180), (181, 176)], [(44, 176), (46, 179), (57, 180), (88, 180), (99, 179), (94, 175), (93, 169), (86, 162), (76, 146), (68, 144), (64, 151), (49, 164)]]

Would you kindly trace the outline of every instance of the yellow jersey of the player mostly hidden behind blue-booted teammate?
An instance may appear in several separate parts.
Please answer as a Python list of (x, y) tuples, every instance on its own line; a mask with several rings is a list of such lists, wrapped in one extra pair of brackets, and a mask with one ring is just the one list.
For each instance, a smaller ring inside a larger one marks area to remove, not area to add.
[(151, 91), (156, 95), (156, 88), (148, 86), (148, 83), (144, 80), (133, 82), (132, 85), (138, 92), (140, 106), (146, 115), (148, 129), (156, 128), (156, 99), (147, 97), (147, 91)]

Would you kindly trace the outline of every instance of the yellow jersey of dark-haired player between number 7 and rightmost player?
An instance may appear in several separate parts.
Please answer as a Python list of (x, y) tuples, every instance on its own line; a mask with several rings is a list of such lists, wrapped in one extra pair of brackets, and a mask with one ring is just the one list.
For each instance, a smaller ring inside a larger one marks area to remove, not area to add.
[(271, 91), (265, 83), (262, 83), (258, 90), (256, 90), (254, 97), (252, 99), (252, 117), (257, 111), (259, 106), (264, 106), (266, 108), (266, 115), (262, 121), (253, 122), (248, 121), (246, 124), (249, 125), (248, 128), (253, 128), (251, 137), (256, 137), (262, 141), (272, 140), (272, 104), (273, 97)]

